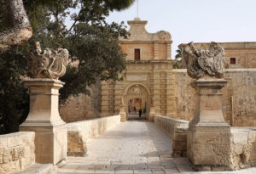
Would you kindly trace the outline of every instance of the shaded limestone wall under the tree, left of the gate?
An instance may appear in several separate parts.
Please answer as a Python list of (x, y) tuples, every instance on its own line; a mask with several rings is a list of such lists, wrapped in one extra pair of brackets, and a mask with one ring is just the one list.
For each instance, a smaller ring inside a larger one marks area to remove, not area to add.
[(99, 117), (101, 98), (101, 82), (97, 81), (96, 84), (90, 88), (90, 95), (81, 93), (77, 97), (68, 98), (66, 103), (61, 105), (61, 119), (69, 123)]

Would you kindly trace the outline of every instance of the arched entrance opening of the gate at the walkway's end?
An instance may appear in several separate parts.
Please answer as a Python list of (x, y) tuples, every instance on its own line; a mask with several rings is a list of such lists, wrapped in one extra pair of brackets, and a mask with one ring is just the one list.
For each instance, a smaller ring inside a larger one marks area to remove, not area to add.
[(126, 119), (128, 119), (129, 114), (138, 116), (139, 109), (142, 109), (143, 116), (148, 119), (150, 109), (148, 101), (150, 101), (149, 90), (143, 84), (137, 83), (126, 87), (124, 93)]

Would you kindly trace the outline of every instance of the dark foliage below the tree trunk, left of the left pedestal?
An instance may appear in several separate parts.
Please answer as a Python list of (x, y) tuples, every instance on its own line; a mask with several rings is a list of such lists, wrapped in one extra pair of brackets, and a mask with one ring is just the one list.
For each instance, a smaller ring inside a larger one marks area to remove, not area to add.
[(17, 132), (28, 114), (28, 94), (22, 76), (26, 75), (26, 59), (18, 48), (0, 57), (0, 134)]

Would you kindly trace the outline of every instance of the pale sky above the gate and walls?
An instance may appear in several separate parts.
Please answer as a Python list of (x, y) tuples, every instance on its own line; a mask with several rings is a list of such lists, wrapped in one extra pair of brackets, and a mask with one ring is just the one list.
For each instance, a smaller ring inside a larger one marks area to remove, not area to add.
[[(256, 0), (139, 0), (139, 18), (150, 33), (169, 31), (172, 58), (186, 42), (256, 42)], [(133, 20), (137, 2), (114, 11), (109, 23)]]

